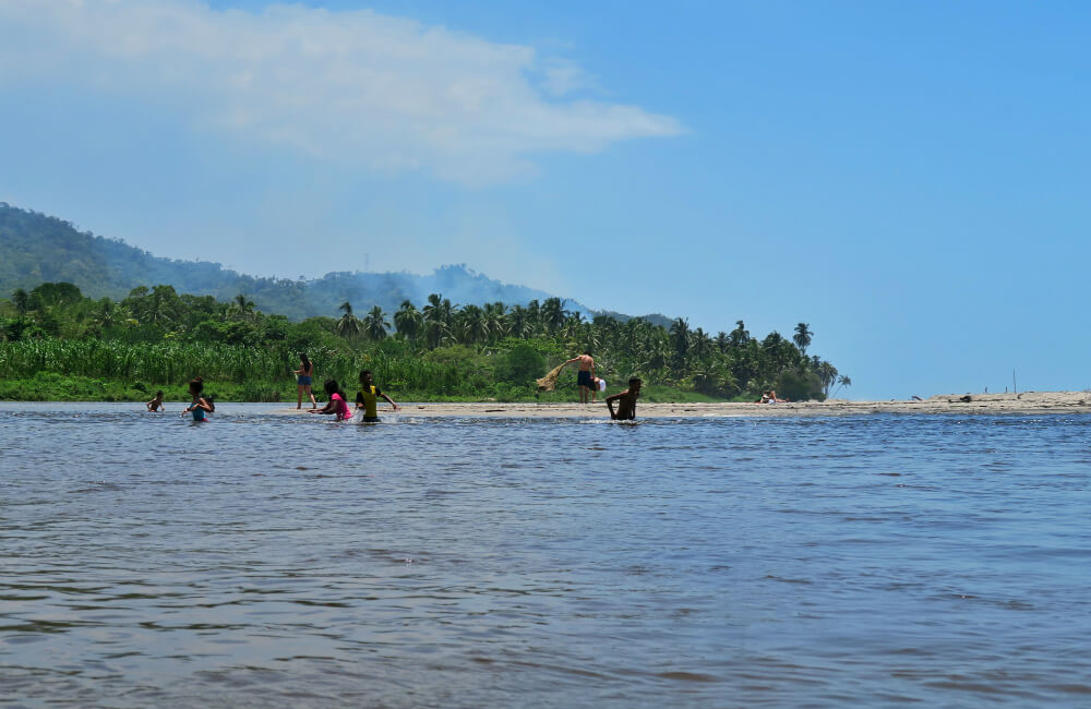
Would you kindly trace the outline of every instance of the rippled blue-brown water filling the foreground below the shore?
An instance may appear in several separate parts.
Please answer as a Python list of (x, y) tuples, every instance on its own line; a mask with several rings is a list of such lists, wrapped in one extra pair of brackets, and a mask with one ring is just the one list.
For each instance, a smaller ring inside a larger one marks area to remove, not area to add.
[(15, 706), (1087, 706), (1091, 418), (0, 405)]

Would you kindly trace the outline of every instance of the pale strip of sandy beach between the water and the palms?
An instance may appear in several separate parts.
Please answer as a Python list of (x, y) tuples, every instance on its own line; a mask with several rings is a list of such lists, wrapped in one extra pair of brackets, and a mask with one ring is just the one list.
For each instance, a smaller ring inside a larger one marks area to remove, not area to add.
[[(470, 416), (496, 418), (610, 418), (604, 404), (403, 404), (403, 414)], [(940, 394), (922, 400), (802, 401), (789, 404), (651, 404), (640, 401), (637, 417), (642, 419), (678, 417), (747, 417), (747, 416), (859, 416), (865, 413), (1091, 413), (1091, 393), (1027, 392), (1024, 394)], [(295, 408), (275, 413), (305, 413)], [(379, 416), (389, 416), (389, 407), (381, 407)]]

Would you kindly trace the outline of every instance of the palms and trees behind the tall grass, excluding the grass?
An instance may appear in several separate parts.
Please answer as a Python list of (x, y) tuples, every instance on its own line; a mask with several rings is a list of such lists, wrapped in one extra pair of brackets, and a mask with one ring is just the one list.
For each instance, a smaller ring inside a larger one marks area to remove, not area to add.
[[(516, 398), (532, 396), (536, 376), (584, 350), (594, 353), (608, 380), (638, 375), (651, 385), (716, 398), (746, 400), (775, 388), (793, 400), (822, 399), (851, 385), (830, 362), (808, 352), (814, 333), (807, 323), (799, 323), (790, 337), (777, 332), (754, 337), (741, 320), (731, 332), (714, 334), (691, 327), (685, 317), (669, 326), (639, 317), (587, 319), (566, 310), (560, 298), (460, 305), (432, 293), (420, 305), (405, 300), (393, 313), (374, 305), (362, 317), (346, 301), (329, 316), (296, 323), (256, 310), (241, 293), (223, 302), (160, 285), (134, 288), (119, 301), (94, 300), (72, 284), (46, 283), (0, 301), (0, 337), (4, 343), (88, 338), (133, 346), (204, 343), (336, 352), (364, 360), (381, 356), (421, 365), (461, 360), (472, 366), (460, 371), (483, 370), (484, 375), (479, 372), (475, 380), (483, 387), (481, 395), (493, 394), (489, 387), (495, 381)], [(451, 386), (449, 376), (440, 380)]]

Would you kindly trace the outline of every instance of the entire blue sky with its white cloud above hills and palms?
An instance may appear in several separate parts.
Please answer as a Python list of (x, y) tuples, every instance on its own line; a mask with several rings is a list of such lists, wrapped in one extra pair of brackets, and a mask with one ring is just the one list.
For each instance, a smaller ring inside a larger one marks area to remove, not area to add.
[(463, 263), (1091, 388), (1091, 4), (0, 0), (0, 201), (259, 275)]

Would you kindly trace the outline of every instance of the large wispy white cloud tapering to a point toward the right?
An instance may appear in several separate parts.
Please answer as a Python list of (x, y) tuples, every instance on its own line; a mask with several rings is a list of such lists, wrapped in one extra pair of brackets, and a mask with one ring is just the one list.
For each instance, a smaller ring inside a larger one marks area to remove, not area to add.
[(137, 97), (203, 130), (468, 183), (532, 172), (543, 151), (682, 131), (636, 106), (563, 99), (594, 88), (564, 58), (367, 10), (0, 0), (4, 82)]

